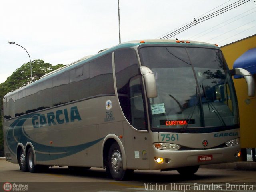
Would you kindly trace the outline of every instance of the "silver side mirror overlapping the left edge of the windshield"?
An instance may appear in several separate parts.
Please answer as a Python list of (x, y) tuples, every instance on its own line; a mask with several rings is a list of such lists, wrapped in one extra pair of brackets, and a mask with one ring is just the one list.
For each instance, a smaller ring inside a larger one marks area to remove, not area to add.
[(152, 70), (148, 67), (140, 67), (140, 73), (142, 74), (146, 86), (146, 92), (148, 98), (157, 97), (156, 80)]

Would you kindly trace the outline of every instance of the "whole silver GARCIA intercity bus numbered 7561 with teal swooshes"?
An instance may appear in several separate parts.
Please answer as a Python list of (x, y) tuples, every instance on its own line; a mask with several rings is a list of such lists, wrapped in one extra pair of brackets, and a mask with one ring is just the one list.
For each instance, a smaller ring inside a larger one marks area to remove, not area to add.
[(6, 160), (22, 171), (102, 167), (178, 170), (235, 162), (239, 116), (220, 48), (179, 40), (118, 44), (4, 96)]

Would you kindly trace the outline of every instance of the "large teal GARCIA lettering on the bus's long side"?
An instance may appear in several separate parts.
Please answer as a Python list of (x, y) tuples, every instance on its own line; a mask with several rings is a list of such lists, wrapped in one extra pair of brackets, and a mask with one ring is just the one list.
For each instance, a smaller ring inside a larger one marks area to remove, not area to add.
[(32, 124), (34, 128), (69, 123), (74, 122), (75, 120), (82, 120), (77, 106), (71, 107), (69, 111), (68, 109), (63, 109), (57, 110), (55, 113), (49, 112), (47, 114), (35, 114), (32, 116)]

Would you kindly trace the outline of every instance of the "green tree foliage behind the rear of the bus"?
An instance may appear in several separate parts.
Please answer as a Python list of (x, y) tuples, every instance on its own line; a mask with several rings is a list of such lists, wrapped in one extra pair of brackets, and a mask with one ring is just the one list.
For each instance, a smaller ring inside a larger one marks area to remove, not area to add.
[[(44, 60), (34, 60), (31, 62), (32, 66), (32, 80), (36, 81), (41, 76), (56, 70), (60, 67), (63, 67), (63, 64), (58, 64), (56, 66), (52, 66), (49, 63), (45, 63)], [(4, 141), (3, 141), (3, 129), (2, 129), (2, 102), (4, 95), (12, 90), (21, 88), (27, 84), (31, 83), (31, 70), (30, 70), (30, 62), (25, 63), (20, 68), (16, 69), (12, 73), (7, 80), (0, 84), (0, 109), (1, 109), (1, 116), (0, 116), (0, 157), (4, 155)]]

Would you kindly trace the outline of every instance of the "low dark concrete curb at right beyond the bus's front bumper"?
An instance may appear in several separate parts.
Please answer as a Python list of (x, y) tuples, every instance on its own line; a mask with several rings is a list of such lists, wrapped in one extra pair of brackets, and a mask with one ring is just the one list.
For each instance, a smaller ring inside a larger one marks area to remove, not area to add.
[(202, 165), (200, 167), (208, 168), (208, 169), (235, 169), (235, 170), (256, 171), (256, 162), (220, 163), (220, 164), (212, 164), (212, 165)]

